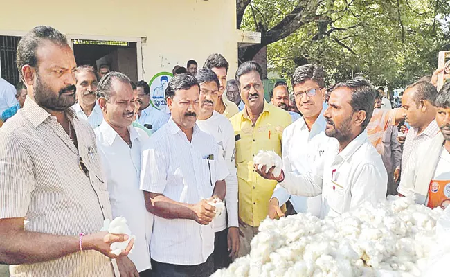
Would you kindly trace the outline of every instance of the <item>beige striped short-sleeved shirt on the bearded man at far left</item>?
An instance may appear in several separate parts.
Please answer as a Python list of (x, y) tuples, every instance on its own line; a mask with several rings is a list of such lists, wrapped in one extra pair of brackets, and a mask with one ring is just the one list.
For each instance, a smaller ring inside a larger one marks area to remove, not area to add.
[[(55, 116), (31, 98), (0, 129), (0, 218), (25, 217), (26, 231), (78, 236), (100, 231), (103, 220), (111, 219), (96, 136), (73, 109), (67, 114), (78, 150)], [(114, 276), (111, 260), (93, 250), (10, 271), (11, 276)]]

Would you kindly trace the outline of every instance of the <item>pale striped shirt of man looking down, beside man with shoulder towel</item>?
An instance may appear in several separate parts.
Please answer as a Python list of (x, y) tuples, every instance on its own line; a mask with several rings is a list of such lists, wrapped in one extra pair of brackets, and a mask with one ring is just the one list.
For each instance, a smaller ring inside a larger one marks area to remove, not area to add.
[[(436, 134), (440, 132), (438, 127), (438, 123), (436, 120), (431, 121), (431, 123), (424, 129), (424, 131), (417, 135), (417, 128), (411, 127), (406, 134), (405, 143), (403, 145), (403, 156), (402, 156), (402, 169), (406, 169), (406, 164), (408, 164), (409, 157), (411, 156), (411, 152), (413, 152), (414, 148), (417, 148), (417, 145), (424, 141), (428, 141), (429, 139), (433, 139)], [(403, 176), (402, 170), (401, 175)]]

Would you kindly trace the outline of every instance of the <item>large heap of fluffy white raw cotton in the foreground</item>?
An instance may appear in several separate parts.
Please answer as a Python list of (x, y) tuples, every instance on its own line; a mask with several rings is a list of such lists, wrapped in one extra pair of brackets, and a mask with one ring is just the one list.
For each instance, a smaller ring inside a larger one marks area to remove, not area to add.
[(421, 276), (441, 214), (411, 198), (388, 197), (324, 220), (264, 220), (251, 253), (213, 276)]

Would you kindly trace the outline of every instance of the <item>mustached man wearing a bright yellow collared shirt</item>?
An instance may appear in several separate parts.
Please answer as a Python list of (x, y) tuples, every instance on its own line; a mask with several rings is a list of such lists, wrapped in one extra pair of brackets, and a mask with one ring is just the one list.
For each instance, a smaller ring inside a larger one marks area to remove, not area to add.
[(264, 179), (253, 170), (253, 157), (260, 150), (273, 150), (281, 156), (282, 132), (291, 116), (264, 100), (262, 69), (256, 62), (244, 62), (236, 71), (245, 108), (233, 116), (236, 139), (237, 180), (239, 184), (240, 249), (238, 256), (250, 252), (251, 239), (267, 217), (269, 199), (277, 182)]

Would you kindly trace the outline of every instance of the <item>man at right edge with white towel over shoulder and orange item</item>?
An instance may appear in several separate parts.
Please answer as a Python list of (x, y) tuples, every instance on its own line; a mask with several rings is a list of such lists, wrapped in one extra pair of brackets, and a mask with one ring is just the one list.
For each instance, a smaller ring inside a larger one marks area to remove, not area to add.
[(418, 204), (429, 208), (446, 208), (450, 199), (450, 82), (438, 93), (435, 107), (440, 132), (413, 149), (398, 192), (415, 195)]

